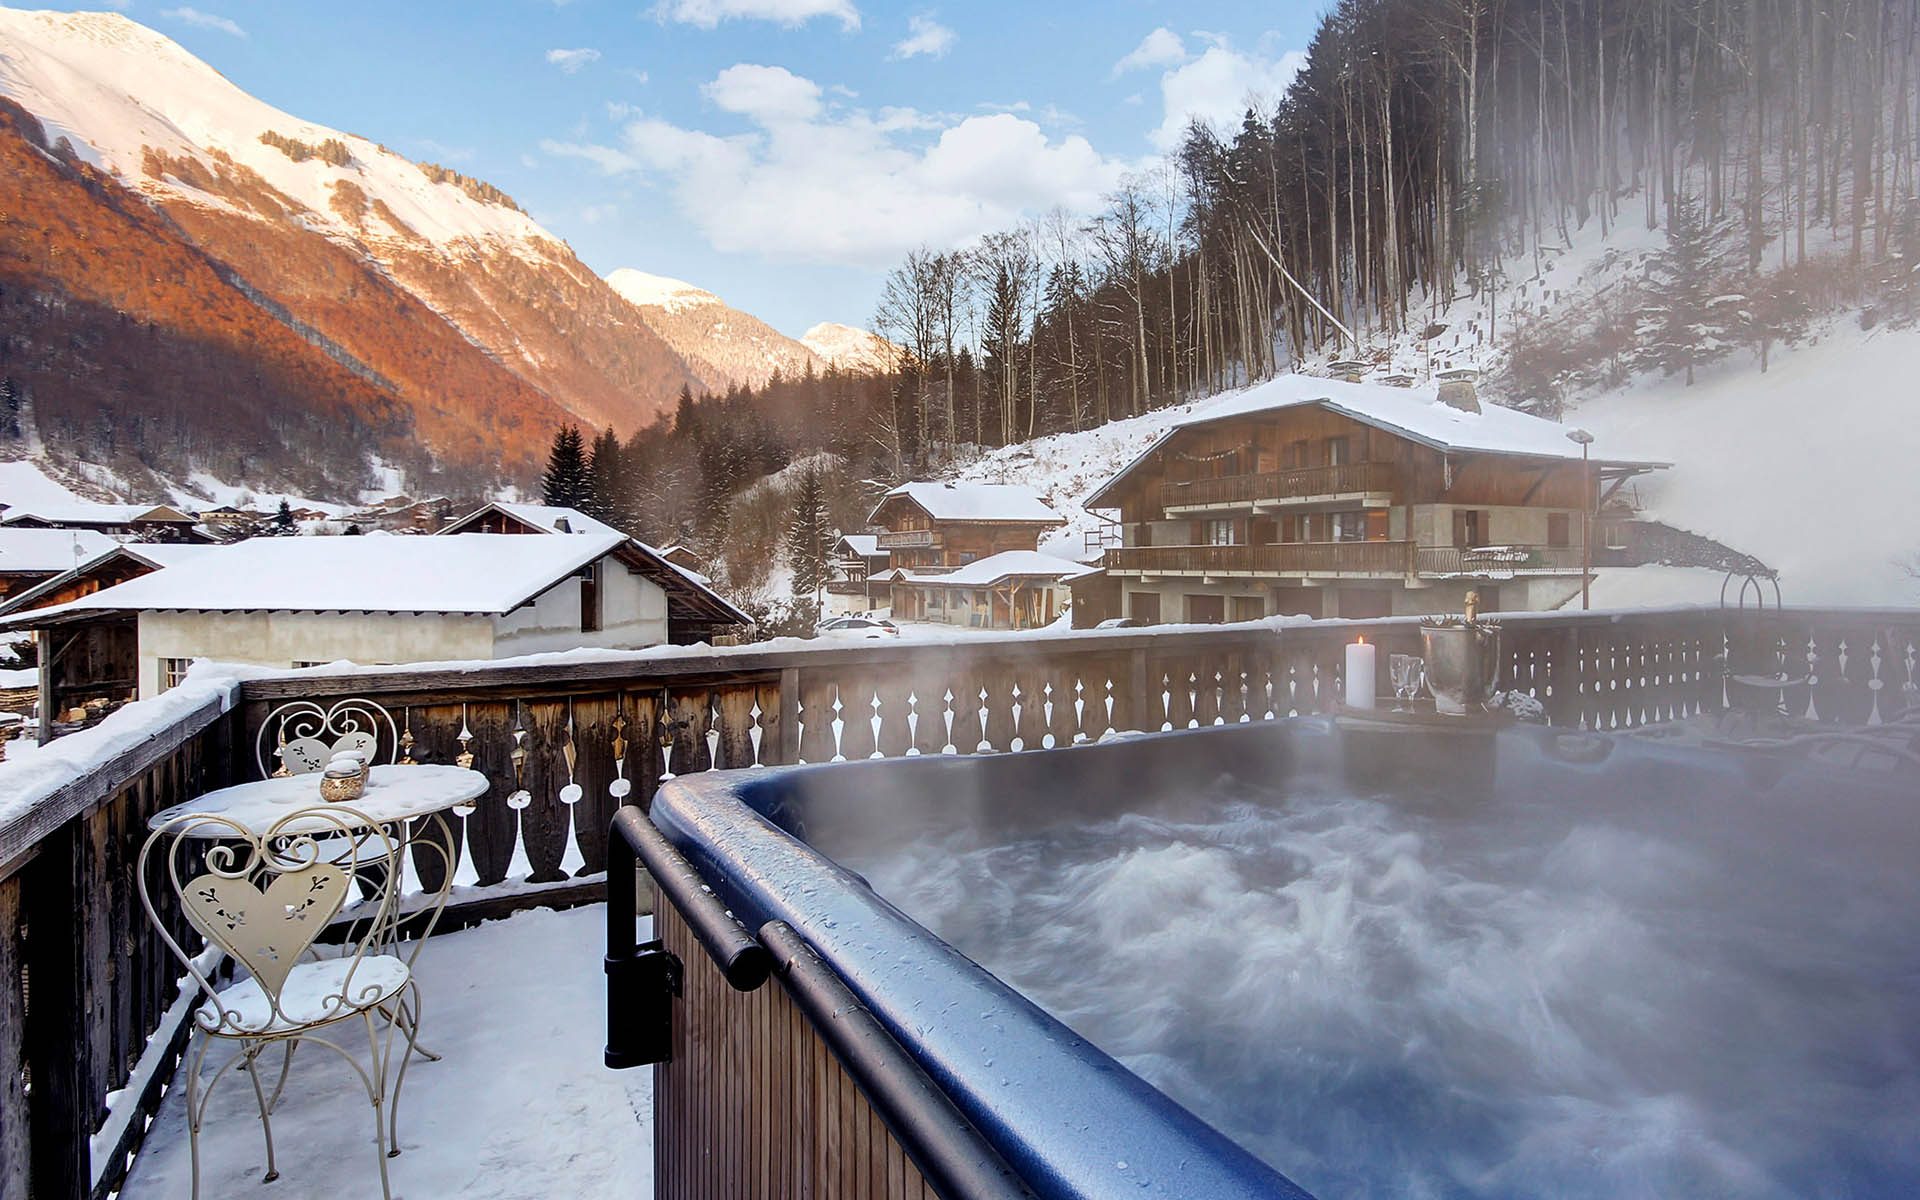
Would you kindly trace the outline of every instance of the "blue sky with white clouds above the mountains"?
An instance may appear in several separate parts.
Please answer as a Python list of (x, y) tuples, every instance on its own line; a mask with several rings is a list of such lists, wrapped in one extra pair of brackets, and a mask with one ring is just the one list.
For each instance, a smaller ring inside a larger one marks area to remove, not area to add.
[[(61, 8), (96, 8), (75, 4)], [(599, 273), (799, 334), (881, 273), (1089, 209), (1183, 113), (1277, 94), (1319, 4), (129, 0), (261, 100), (478, 175)]]

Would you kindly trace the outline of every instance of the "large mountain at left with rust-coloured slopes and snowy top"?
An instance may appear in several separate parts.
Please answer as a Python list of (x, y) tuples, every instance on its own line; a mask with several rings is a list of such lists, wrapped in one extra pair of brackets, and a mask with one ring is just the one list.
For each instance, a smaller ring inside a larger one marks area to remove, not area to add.
[(6, 380), (54, 457), (307, 495), (530, 478), (563, 420), (626, 434), (808, 357), (684, 292), (636, 307), (492, 184), (123, 15), (0, 10)]

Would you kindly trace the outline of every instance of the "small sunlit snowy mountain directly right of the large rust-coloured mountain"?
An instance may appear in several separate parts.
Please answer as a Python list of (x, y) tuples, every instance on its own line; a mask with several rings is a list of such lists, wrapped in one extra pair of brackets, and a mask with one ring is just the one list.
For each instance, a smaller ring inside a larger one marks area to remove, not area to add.
[(751, 313), (689, 282), (620, 267), (607, 282), (637, 307), (657, 334), (666, 338), (708, 392), (733, 384), (760, 386), (783, 376), (826, 369), (826, 359)]

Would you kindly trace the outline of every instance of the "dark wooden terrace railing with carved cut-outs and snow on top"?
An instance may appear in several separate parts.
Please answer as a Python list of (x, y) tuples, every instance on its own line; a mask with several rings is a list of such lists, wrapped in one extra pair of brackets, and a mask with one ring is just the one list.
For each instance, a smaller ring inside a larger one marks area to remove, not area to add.
[[(1728, 672), (1780, 672), (1780, 689), (1763, 703), (1822, 722), (1864, 726), (1920, 703), (1920, 611), (1672, 609), (1501, 622), (1501, 684), (1540, 699), (1555, 726), (1630, 730), (1718, 712)], [(1356, 636), (1419, 653), (1419, 622), (1396, 618), (799, 651), (674, 647), (463, 670), (321, 668), (223, 685), (190, 676), (179, 693), (38, 753), (42, 762), (84, 762), (69, 778), (36, 783), (44, 776), (29, 774), (23, 793), (17, 776), (0, 774), (0, 1194), (79, 1200), (119, 1187), (173, 1077), (188, 1016), (179, 966), (140, 912), (134, 854), (156, 810), (257, 774), (253, 739), (275, 705), (369, 697), (413, 735), (422, 762), (451, 762), (470, 747), (493, 787), (457, 818), (467, 868), (457, 877), (467, 881), (440, 925), (449, 929), (603, 897), (612, 814), (649, 804), (670, 776), (1023, 753), (1114, 730), (1327, 712)], [(1379, 655), (1380, 693), (1388, 653)], [(165, 920), (192, 945), (180, 914)], [(741, 1114), (753, 1116), (747, 1106)]]

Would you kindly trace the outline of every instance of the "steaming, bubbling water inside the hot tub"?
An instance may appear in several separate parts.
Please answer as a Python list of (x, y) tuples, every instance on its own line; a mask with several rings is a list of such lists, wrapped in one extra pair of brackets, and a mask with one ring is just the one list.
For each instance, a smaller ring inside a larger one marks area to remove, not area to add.
[(1722, 791), (808, 841), (1319, 1196), (1916, 1194), (1920, 803)]

